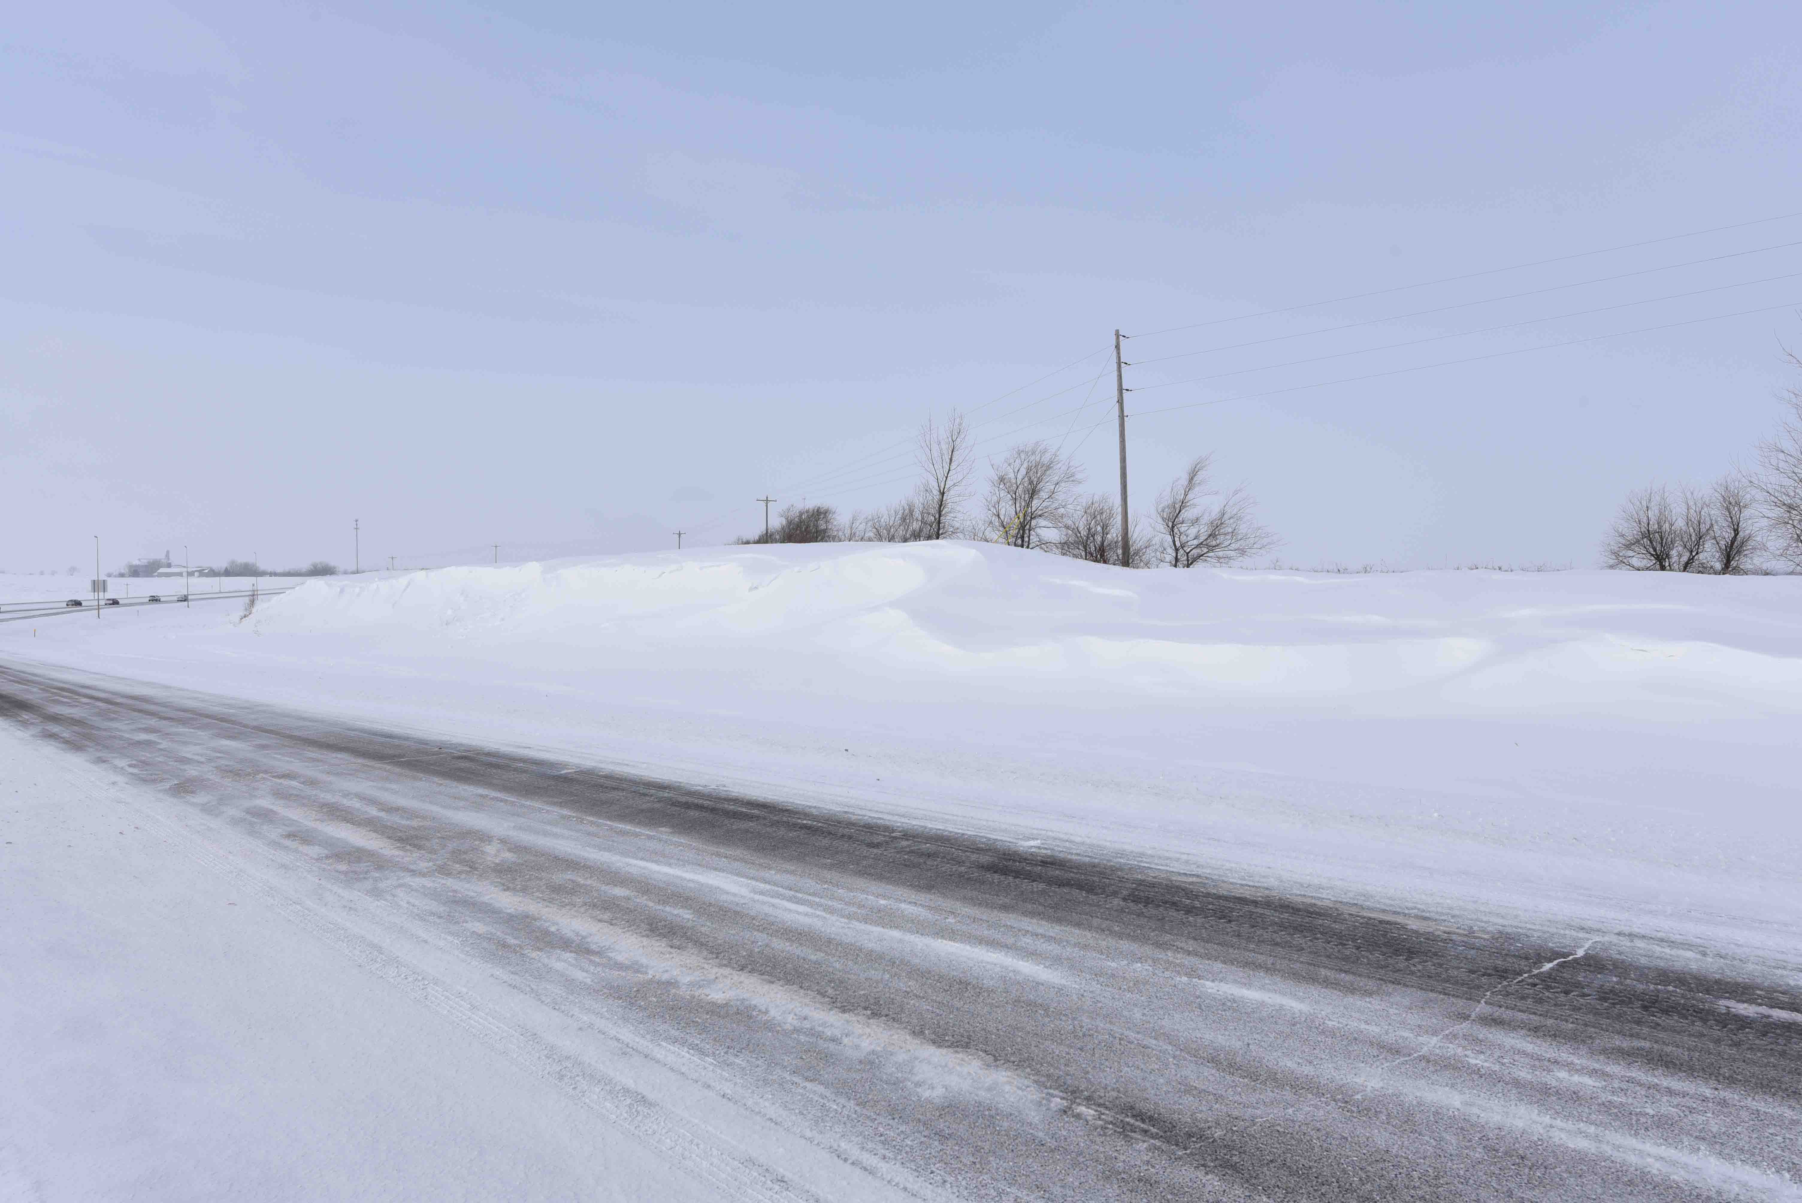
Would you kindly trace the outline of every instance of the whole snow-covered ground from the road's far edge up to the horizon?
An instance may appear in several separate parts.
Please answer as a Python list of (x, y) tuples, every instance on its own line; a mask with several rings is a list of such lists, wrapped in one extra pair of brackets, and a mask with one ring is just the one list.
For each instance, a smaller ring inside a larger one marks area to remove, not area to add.
[(240, 609), (0, 623), (0, 656), (1496, 922), (1802, 944), (1802, 578), (843, 544)]

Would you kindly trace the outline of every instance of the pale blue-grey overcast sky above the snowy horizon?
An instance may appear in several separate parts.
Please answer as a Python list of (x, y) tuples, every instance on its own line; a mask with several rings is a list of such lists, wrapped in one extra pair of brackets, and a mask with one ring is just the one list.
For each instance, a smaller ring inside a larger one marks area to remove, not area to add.
[(1213, 452), (1288, 564), (1591, 565), (1627, 488), (1775, 420), (1798, 32), (1786, 2), (20, 5), (0, 569), (96, 533), (108, 567), (348, 565), (353, 519), (366, 565), (724, 542), (755, 497), (899, 495), (921, 420), (1083, 355), (973, 421), (1114, 488), (1103, 349), (1197, 322), (1126, 344), (1135, 506)]

